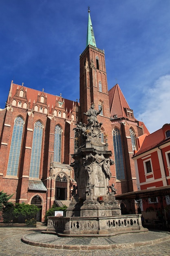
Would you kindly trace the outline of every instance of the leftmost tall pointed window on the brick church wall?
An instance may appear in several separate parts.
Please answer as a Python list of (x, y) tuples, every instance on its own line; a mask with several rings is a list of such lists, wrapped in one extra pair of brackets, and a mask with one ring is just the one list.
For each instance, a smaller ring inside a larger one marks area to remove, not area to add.
[(22, 117), (16, 117), (13, 126), (7, 175), (17, 176), (18, 174), (23, 129), (24, 120)]

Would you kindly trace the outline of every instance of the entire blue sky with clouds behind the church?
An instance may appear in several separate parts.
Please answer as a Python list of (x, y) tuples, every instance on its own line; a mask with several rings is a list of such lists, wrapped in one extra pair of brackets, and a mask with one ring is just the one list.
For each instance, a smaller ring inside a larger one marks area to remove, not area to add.
[(0, 108), (11, 80), (79, 100), (88, 6), (108, 89), (119, 84), (150, 132), (169, 124), (170, 0), (0, 0)]

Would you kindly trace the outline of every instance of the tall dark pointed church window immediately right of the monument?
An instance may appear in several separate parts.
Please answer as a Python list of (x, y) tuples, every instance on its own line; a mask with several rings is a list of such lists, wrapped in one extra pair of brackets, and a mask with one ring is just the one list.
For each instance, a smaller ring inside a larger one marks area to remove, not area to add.
[(115, 153), (116, 178), (117, 180), (122, 180), (125, 179), (124, 158), (121, 144), (121, 135), (118, 128), (113, 130), (113, 145)]

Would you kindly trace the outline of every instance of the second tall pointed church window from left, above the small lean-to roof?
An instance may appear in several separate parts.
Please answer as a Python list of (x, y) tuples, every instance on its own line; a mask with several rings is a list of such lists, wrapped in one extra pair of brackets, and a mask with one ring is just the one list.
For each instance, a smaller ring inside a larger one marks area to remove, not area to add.
[(42, 147), (42, 132), (43, 132), (43, 125), (40, 121), (37, 121), (34, 125), (34, 131), (33, 131), (33, 144), (32, 144), (32, 150), (31, 150), (31, 163), (30, 163), (30, 172), (29, 172), (29, 176), (32, 178), (39, 178), (41, 147)]

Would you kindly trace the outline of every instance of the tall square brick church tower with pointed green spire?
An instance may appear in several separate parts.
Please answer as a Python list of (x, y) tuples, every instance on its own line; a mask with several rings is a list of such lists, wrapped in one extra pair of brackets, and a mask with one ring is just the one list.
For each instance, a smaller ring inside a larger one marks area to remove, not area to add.
[(97, 117), (102, 125), (102, 142), (109, 141), (108, 147), (113, 148), (110, 123), (110, 108), (104, 50), (97, 48), (90, 10), (88, 10), (88, 28), (86, 49), (80, 55), (80, 107), (82, 123), (87, 124), (87, 117), (83, 115), (95, 103), (95, 109), (102, 112)]

